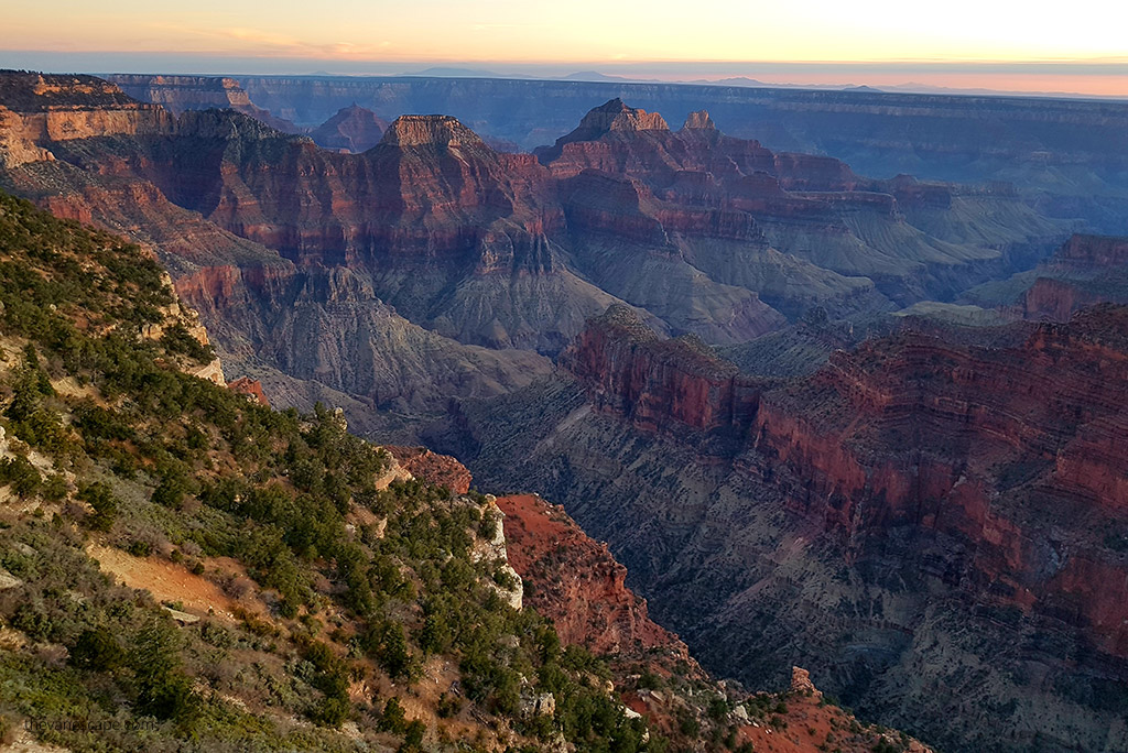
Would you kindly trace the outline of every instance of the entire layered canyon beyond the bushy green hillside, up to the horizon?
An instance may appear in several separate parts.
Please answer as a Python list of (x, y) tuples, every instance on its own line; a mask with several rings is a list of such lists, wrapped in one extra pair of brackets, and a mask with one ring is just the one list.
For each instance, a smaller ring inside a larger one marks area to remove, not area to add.
[(1128, 259), (1079, 232), (1120, 105), (113, 80), (0, 74), (0, 187), (153, 253), (256, 400), (512, 491), (562, 638), (797, 664), (944, 750), (1128, 747)]

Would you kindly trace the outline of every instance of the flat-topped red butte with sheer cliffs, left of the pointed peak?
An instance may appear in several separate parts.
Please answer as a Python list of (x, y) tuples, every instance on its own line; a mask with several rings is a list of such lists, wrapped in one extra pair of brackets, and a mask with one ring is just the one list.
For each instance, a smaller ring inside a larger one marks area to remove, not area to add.
[(184, 145), (147, 175), (300, 266), (365, 273), (381, 299), (443, 335), (553, 352), (615, 300), (562, 264), (563, 215), (543, 168), (450, 118), (400, 118), (352, 156), (218, 116), (224, 132), (214, 117), (182, 123)]

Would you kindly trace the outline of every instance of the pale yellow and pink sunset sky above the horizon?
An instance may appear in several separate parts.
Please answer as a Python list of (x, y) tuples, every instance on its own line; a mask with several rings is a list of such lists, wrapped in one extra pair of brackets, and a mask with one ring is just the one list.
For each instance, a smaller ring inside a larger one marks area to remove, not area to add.
[(1110, 0), (62, 0), (6, 9), (0, 64), (233, 74), (457, 65), (1128, 97), (1126, 28), (1128, 3)]

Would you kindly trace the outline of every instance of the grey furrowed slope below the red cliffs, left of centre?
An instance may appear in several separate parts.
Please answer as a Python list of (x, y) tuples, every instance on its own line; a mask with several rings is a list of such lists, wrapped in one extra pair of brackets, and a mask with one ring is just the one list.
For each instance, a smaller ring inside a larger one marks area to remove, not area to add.
[(270, 364), (371, 407), (437, 410), (451, 397), (490, 396), (547, 373), (523, 351), (466, 346), (413, 325), (347, 268), (294, 271), (211, 267), (178, 289), (209, 321), (229, 360)]

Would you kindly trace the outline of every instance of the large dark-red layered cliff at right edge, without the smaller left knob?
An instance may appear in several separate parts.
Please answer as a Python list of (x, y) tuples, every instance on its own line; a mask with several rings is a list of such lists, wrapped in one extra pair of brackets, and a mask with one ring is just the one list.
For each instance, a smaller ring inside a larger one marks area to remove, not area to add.
[[(1128, 520), (1128, 352), (1113, 335), (1125, 325), (1125, 309), (1098, 308), (1011, 347), (911, 333), (863, 345), (765, 396), (756, 446), (773, 477), (794, 471), (790, 504), (852, 556), (890, 529), (935, 531), (969, 552), (936, 556), (980, 602), (1061, 621), (1128, 658), (1128, 570), (1079, 523)], [(1120, 575), (1085, 590), (1078, 569)]]

